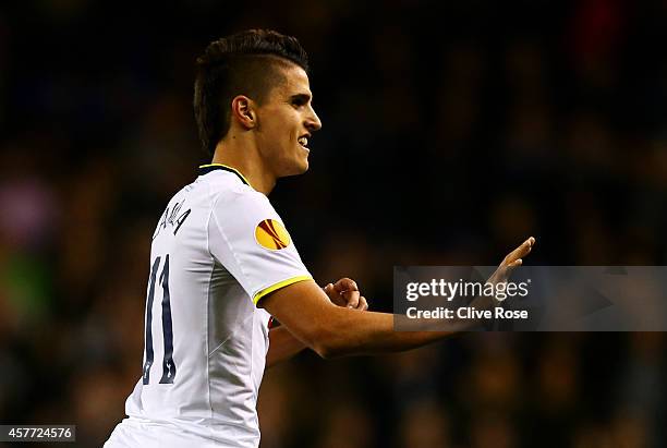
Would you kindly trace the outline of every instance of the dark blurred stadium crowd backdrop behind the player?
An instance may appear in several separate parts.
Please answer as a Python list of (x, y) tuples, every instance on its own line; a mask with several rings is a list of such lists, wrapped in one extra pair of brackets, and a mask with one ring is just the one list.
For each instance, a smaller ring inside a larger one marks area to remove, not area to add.
[[(141, 376), (150, 235), (207, 162), (194, 59), (311, 57), (311, 171), (271, 201), (322, 284), (395, 265), (665, 265), (667, 2), (0, 5), (0, 422), (101, 446)], [(667, 446), (663, 334), (468, 334), (267, 371), (264, 448)], [(663, 423), (659, 423), (663, 422)]]

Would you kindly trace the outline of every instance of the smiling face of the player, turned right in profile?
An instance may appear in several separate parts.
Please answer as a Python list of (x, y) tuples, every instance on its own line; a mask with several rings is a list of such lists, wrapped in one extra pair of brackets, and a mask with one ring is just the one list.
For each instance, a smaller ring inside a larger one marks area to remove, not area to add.
[(284, 81), (276, 85), (257, 111), (257, 145), (276, 178), (308, 169), (308, 138), (322, 128), (313, 110), (308, 76), (299, 65), (278, 69)]

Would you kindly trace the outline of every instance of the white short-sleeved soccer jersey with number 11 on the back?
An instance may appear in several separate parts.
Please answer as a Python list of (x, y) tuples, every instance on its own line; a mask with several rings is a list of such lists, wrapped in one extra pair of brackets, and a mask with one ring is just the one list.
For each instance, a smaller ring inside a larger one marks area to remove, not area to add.
[(270, 315), (257, 301), (311, 279), (267, 197), (199, 168), (153, 235), (143, 376), (105, 447), (257, 447)]

